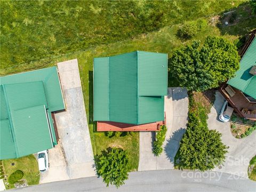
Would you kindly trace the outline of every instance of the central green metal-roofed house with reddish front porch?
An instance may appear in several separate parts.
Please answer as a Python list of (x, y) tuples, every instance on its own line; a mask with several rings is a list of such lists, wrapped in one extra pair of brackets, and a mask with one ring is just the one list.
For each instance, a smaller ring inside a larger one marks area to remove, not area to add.
[(156, 131), (164, 124), (167, 54), (135, 51), (94, 58), (98, 131)]

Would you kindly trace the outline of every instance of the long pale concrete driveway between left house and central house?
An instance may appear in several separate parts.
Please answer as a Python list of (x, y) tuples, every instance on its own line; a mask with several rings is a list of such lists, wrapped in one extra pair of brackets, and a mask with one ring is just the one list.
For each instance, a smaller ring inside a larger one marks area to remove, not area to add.
[(96, 175), (77, 60), (58, 63), (66, 111), (55, 114), (59, 145), (49, 150), (51, 164), (40, 183)]

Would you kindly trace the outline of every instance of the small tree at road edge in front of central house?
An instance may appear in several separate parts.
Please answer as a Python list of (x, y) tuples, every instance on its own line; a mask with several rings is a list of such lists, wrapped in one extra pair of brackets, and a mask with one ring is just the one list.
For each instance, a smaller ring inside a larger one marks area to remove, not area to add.
[(128, 162), (127, 152), (123, 149), (111, 148), (103, 151), (97, 168), (107, 187), (109, 183), (117, 188), (124, 184), (124, 180), (128, 179)]

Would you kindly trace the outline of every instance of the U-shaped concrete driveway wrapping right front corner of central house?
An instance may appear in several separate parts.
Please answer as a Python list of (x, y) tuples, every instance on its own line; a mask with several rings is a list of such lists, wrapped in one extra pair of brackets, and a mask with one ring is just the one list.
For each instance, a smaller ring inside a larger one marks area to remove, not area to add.
[(186, 131), (188, 118), (188, 94), (181, 87), (168, 88), (164, 100), (167, 133), (163, 144), (163, 153), (156, 157), (152, 153), (153, 139), (151, 132), (140, 132), (139, 171), (174, 169), (174, 157), (179, 149), (179, 142)]

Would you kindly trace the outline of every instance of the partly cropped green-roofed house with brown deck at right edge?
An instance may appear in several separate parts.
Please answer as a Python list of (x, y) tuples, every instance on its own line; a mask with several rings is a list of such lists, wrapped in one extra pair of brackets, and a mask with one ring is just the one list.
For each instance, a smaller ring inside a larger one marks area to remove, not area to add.
[(240, 68), (235, 77), (220, 87), (220, 92), (227, 99), (236, 113), (244, 118), (256, 121), (256, 30), (242, 52)]

